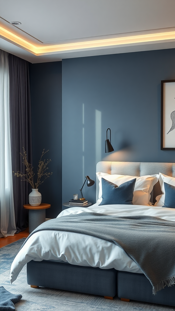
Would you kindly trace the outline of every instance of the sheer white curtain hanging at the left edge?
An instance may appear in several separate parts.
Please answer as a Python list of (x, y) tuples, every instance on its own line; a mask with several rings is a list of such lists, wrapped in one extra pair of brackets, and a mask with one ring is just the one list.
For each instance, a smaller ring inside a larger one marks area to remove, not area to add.
[(10, 145), (8, 54), (0, 50), (0, 237), (16, 232)]

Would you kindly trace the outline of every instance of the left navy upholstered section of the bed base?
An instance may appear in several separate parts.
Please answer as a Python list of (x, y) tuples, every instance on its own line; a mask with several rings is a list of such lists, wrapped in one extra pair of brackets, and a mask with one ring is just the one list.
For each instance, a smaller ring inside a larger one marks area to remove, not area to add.
[(30, 285), (114, 297), (117, 294), (117, 270), (75, 266), (69, 263), (33, 261), (27, 263)]

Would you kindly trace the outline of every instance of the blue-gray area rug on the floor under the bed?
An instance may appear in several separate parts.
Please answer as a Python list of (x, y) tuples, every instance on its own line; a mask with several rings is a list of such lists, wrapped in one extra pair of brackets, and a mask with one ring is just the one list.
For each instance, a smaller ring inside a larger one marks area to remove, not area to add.
[(144, 302), (108, 300), (102, 296), (81, 294), (50, 288), (31, 288), (26, 281), (26, 266), (10, 285), (10, 266), (25, 238), (0, 248), (0, 285), (12, 294), (21, 294), (16, 311), (172, 311), (175, 307)]

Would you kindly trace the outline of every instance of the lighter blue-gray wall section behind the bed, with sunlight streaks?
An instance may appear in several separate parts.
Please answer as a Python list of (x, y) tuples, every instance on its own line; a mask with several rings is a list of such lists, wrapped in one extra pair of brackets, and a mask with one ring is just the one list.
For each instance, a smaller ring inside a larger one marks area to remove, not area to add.
[[(99, 160), (175, 161), (175, 151), (160, 150), (160, 85), (168, 79), (175, 49), (62, 61), (63, 202), (80, 193), (86, 175), (95, 180)], [(94, 203), (95, 186), (83, 195)]]

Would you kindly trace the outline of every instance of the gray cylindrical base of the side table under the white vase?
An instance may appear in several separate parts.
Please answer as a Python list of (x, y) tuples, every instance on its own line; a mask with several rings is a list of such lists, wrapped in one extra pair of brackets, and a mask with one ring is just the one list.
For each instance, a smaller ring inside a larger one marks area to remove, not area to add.
[(29, 209), (29, 233), (45, 222), (45, 209), (30, 210)]

